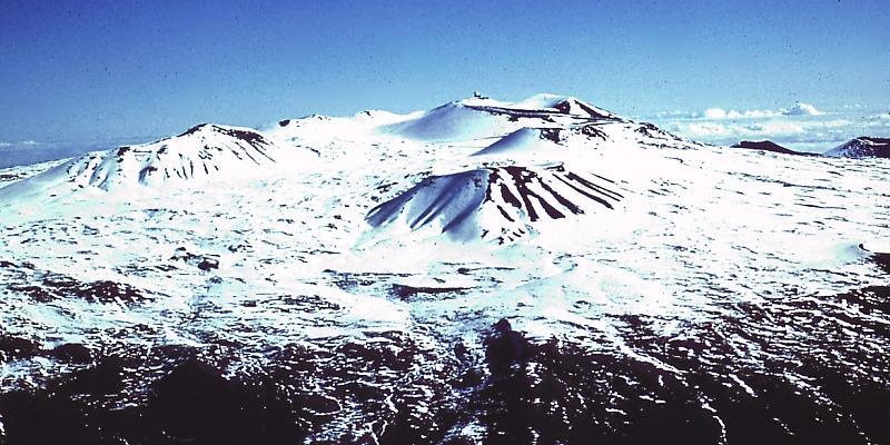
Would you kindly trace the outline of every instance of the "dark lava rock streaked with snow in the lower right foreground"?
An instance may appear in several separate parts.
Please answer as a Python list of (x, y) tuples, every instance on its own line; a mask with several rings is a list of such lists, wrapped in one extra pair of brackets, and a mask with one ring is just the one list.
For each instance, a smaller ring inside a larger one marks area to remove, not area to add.
[[(890, 443), (890, 409), (879, 402), (890, 399), (886, 382), (815, 357), (728, 372), (734, 363), (713, 362), (731, 357), (721, 333), (670, 342), (642, 317), (626, 322), (627, 344), (655, 362), (533, 342), (498, 322), (484, 340), (491, 375), (469, 388), (458, 424), (472, 418), (482, 443)], [(789, 366), (831, 402), (784, 378)]]

